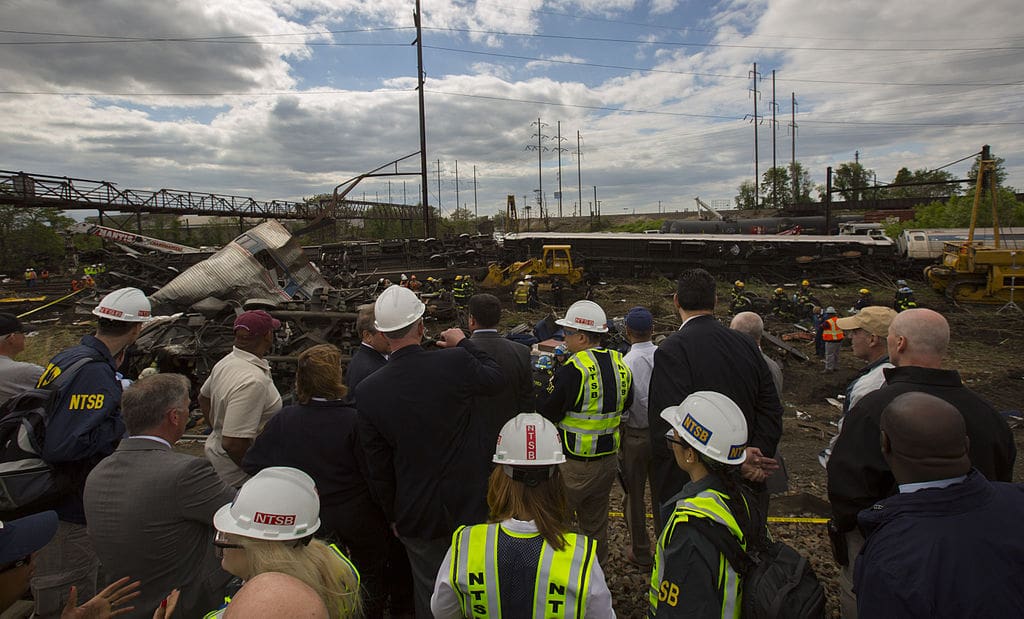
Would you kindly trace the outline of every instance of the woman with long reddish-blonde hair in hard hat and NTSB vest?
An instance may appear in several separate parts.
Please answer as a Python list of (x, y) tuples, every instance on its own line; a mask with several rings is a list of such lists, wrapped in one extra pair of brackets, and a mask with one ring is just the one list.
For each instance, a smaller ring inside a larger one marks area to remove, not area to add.
[(435, 619), (614, 617), (593, 540), (568, 532), (558, 430), (536, 413), (505, 424), (487, 524), (461, 527), (430, 600)]

